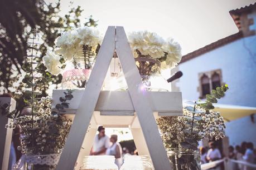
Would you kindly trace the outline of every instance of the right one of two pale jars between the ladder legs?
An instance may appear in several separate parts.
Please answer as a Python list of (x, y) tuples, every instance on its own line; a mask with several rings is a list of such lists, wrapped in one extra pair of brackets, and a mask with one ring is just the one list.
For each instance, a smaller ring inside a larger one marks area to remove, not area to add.
[(153, 170), (149, 156), (124, 156), (124, 164), (120, 170)]

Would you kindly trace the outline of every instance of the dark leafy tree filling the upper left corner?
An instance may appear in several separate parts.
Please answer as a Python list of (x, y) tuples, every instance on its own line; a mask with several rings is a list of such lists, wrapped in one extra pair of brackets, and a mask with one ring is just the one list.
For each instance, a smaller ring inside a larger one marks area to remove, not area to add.
[(0, 1), (0, 87), (4, 87), (4, 92), (8, 92), (13, 74), (21, 74), (21, 66), (32, 48), (28, 43), (32, 29), (39, 30), (44, 41), (39, 47), (40, 60), (46, 52), (46, 46), (54, 47), (54, 41), (61, 32), (83, 25), (97, 25), (91, 16), (88, 22), (81, 24), (83, 10), (80, 6), (71, 8), (61, 17), (60, 3), (47, 3), (43, 0)]

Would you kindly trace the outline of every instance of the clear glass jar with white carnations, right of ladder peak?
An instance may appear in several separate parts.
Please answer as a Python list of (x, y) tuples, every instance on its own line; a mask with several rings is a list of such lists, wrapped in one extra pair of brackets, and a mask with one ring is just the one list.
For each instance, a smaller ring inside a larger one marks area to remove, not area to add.
[(148, 31), (132, 32), (128, 41), (144, 87), (148, 91), (167, 91), (169, 84), (161, 70), (171, 69), (181, 61), (180, 44)]

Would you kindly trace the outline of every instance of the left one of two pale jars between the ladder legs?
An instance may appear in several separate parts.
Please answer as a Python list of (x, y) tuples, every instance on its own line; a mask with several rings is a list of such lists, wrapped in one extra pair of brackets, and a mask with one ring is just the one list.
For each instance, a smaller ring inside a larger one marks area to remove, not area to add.
[(118, 170), (114, 156), (85, 156), (81, 170)]

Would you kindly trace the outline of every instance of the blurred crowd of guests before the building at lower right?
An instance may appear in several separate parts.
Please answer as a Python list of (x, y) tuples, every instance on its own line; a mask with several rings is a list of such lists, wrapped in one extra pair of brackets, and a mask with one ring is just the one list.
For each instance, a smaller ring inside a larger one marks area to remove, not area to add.
[[(247, 163), (256, 163), (256, 149), (253, 147), (252, 142), (242, 142), (241, 145), (237, 145), (235, 147), (229, 146), (229, 155), (230, 159), (235, 159), (238, 161), (244, 161)], [(219, 148), (216, 146), (215, 142), (209, 142), (209, 147), (200, 147), (201, 152), (201, 164), (217, 161), (224, 156), (221, 154)], [(251, 170), (255, 168), (251, 168), (245, 166), (243, 164), (230, 163), (230, 165), (234, 170)], [(214, 167), (214, 169), (221, 169), (221, 164), (219, 166)]]

